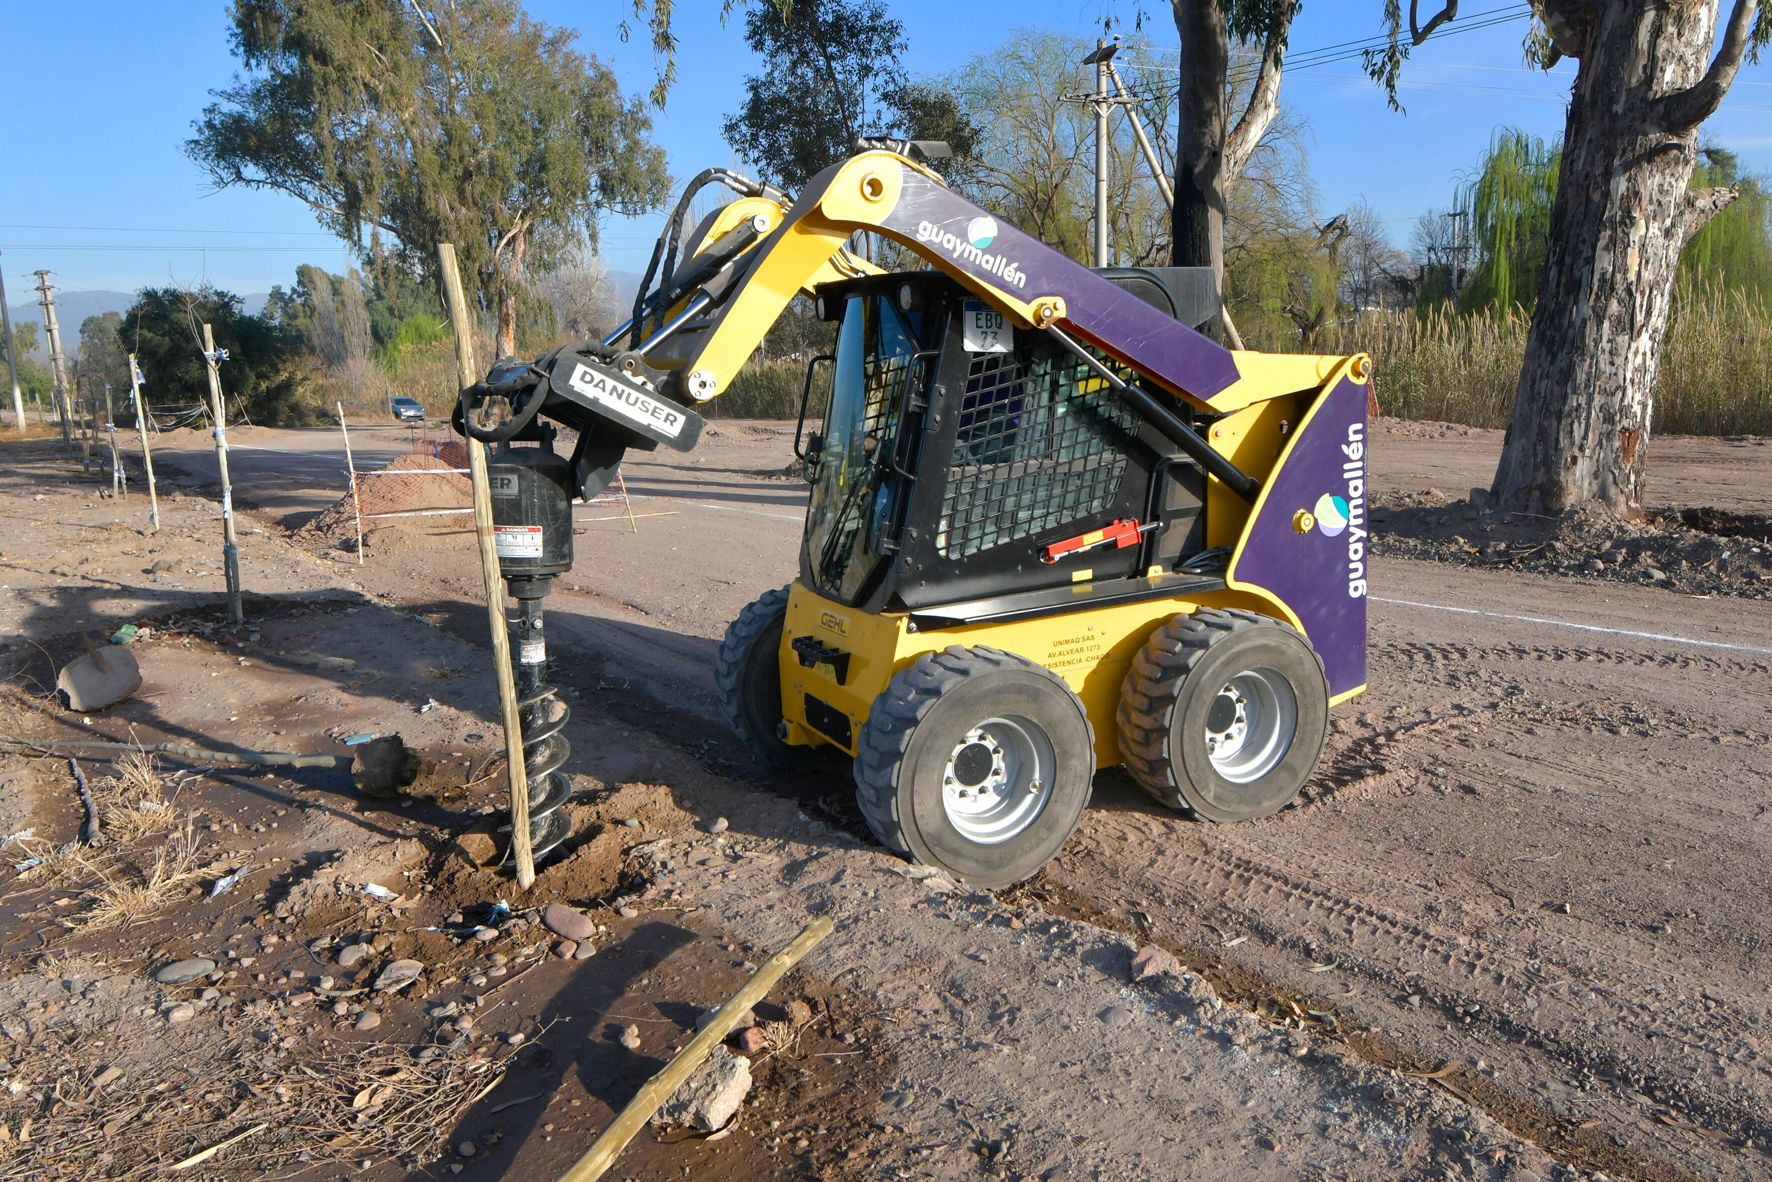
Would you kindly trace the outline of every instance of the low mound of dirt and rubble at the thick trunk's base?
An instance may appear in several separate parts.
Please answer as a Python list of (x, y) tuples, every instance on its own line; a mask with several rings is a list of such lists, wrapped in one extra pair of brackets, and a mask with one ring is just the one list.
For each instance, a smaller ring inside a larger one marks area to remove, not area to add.
[(1372, 509), (1372, 549), (1467, 567), (1667, 587), (1687, 594), (1772, 599), (1772, 519), (1683, 509), (1630, 521), (1598, 505), (1554, 517), (1497, 512), (1487, 493), (1389, 493)]

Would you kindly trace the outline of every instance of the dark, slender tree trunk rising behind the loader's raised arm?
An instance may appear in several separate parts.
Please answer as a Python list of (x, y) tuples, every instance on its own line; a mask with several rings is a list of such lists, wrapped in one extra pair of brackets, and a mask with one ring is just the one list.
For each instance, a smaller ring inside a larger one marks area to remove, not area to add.
[(1175, 266), (1212, 268), (1224, 282), (1224, 69), (1230, 44), (1219, 0), (1175, 0), (1182, 37), (1175, 136)]

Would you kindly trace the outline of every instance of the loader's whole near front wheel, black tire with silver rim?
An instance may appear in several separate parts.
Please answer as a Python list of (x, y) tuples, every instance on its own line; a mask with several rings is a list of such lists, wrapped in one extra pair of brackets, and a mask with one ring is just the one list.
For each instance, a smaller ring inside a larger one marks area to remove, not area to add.
[(882, 845), (978, 886), (1012, 886), (1083, 819), (1095, 732), (1051, 670), (955, 645), (918, 657), (874, 700), (854, 773)]

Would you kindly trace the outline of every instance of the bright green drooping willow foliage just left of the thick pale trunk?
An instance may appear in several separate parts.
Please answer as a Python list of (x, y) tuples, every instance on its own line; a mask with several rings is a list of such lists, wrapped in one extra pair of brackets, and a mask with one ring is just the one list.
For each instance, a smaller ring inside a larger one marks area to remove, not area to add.
[(1545, 144), (1519, 128), (1501, 128), (1490, 138), (1476, 177), (1458, 191), (1476, 253), (1462, 307), (1499, 312), (1536, 303), (1561, 170), (1561, 140)]

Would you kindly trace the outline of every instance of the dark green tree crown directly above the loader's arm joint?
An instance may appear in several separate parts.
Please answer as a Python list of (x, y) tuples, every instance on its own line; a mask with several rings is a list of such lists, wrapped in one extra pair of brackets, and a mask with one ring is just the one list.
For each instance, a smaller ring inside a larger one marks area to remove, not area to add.
[(744, 103), (723, 133), (769, 181), (803, 190), (859, 136), (884, 135), (882, 119), (897, 113), (904, 25), (879, 0), (755, 7), (744, 43), (764, 71), (744, 80)]

